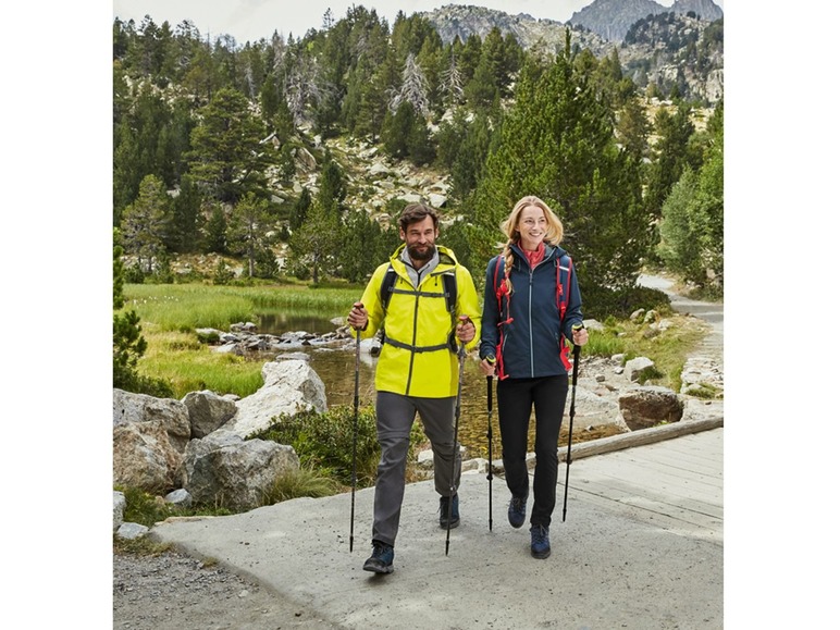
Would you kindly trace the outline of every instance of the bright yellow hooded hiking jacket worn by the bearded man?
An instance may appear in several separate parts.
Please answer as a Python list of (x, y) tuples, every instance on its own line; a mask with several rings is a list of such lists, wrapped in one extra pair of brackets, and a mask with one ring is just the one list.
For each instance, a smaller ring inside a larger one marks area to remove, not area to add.
[[(424, 398), (445, 398), (458, 393), (458, 357), (449, 348), (449, 334), (457, 317), (466, 314), (475, 325), (475, 336), (467, 349), (475, 347), (481, 337), (481, 312), (472, 275), (458, 264), (455, 255), (437, 246), (440, 263), (415, 289), (399, 256), (400, 245), (370, 279), (361, 302), (368, 309), (368, 328), (363, 338), (372, 337), (384, 325), (385, 343), (376, 365), (375, 386), (379, 392), (393, 392)], [(387, 317), (382, 307), (380, 287), (388, 264), (397, 277), (388, 302)], [(455, 273), (457, 302), (449, 313), (444, 295), (444, 273)], [(406, 293), (399, 293), (406, 292)]]

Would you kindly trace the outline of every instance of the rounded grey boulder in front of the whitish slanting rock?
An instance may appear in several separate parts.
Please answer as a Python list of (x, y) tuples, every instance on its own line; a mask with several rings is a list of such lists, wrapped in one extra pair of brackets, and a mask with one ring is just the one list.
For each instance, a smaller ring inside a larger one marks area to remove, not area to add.
[(299, 467), (291, 446), (217, 431), (187, 445), (182, 479), (195, 503), (248, 510), (262, 505), (280, 473)]

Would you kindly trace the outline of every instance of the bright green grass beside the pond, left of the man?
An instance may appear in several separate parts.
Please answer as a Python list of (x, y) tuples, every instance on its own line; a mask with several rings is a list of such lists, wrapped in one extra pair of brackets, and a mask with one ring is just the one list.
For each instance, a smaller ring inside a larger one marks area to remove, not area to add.
[(196, 283), (128, 284), (124, 293), (126, 308), (140, 316), (148, 343), (138, 372), (163, 379), (181, 398), (201, 390), (245, 397), (262, 386), (262, 363), (212, 351), (199, 342), (196, 329), (227, 331), (232, 323), (252, 321), (256, 313), (272, 309), (337, 317), (358, 299), (361, 289)]

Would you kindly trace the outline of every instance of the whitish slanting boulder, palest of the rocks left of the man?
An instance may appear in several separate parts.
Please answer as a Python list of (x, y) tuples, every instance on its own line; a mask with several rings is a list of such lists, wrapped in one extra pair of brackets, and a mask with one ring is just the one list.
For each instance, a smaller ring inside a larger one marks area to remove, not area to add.
[(236, 415), (221, 430), (247, 437), (271, 427), (281, 413), (326, 411), (324, 383), (308, 361), (270, 361), (262, 366), (262, 387), (236, 402)]

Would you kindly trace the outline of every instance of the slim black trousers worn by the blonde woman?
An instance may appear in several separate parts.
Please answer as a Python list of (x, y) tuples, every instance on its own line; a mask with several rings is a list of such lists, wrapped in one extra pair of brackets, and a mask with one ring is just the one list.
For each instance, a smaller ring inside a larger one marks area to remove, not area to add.
[(557, 442), (560, 436), (563, 410), (569, 391), (569, 376), (541, 379), (505, 379), (498, 381), (498, 425), (502, 434), (502, 461), (505, 481), (514, 496), (528, 496), (528, 425), (531, 406), (536, 417), (534, 452), (534, 503), (531, 524), (547, 528), (557, 493)]

